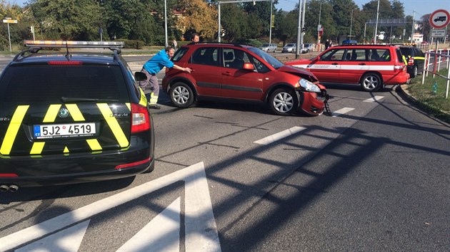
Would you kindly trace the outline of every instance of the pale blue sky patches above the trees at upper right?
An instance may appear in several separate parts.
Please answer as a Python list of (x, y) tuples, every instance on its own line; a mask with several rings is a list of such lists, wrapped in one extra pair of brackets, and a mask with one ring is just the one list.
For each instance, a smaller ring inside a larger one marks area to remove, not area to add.
[[(353, 0), (355, 4), (362, 9), (364, 4), (369, 3), (370, 0)], [(421, 16), (431, 14), (438, 9), (450, 11), (450, 0), (399, 0), (404, 6), (405, 16), (413, 16), (416, 11), (414, 19), (419, 20)], [(299, 4), (299, 0), (278, 0), (276, 9), (283, 9), (284, 11), (291, 11)]]

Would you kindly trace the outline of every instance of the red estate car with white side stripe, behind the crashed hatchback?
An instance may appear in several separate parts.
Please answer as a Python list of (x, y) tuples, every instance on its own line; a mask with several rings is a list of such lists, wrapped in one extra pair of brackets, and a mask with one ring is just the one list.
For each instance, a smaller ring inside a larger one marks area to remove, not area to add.
[(286, 65), (311, 71), (321, 83), (359, 84), (369, 92), (409, 80), (403, 55), (396, 46), (333, 46), (315, 58)]

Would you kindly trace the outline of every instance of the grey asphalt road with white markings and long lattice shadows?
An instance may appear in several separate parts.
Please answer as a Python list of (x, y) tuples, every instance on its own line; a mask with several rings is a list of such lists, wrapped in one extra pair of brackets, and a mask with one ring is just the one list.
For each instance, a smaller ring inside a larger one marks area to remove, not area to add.
[(450, 125), (327, 88), (332, 117), (161, 94), (154, 172), (0, 194), (0, 251), (448, 251)]

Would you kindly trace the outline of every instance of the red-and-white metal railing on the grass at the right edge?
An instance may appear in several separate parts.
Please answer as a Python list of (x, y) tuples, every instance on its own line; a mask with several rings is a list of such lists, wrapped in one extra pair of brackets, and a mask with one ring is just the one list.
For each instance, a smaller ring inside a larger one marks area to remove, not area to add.
[[(434, 59), (431, 62), (431, 59)], [(437, 76), (447, 80), (445, 98), (449, 98), (449, 84), (450, 84), (450, 70), (447, 71), (447, 76), (439, 74), (439, 70), (442, 68), (449, 69), (450, 66), (450, 49), (438, 49), (437, 51), (429, 50), (425, 53), (424, 72), (422, 73), (422, 85), (425, 83), (425, 76), (429, 73), (433, 73), (433, 78)]]

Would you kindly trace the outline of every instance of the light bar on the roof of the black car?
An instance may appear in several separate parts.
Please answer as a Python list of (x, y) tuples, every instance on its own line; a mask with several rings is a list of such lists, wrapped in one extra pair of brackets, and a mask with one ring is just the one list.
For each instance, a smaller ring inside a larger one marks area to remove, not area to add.
[(27, 47), (123, 48), (123, 41), (24, 41)]

